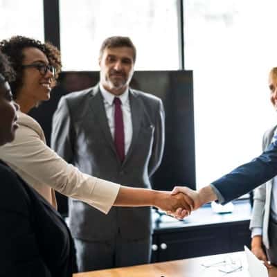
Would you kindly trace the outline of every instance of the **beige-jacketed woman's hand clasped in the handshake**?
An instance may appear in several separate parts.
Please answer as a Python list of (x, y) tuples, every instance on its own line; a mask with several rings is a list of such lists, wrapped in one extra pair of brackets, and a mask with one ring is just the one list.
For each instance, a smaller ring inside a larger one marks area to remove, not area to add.
[[(193, 210), (192, 199), (183, 193), (175, 193), (175, 195), (172, 195), (171, 192), (159, 192), (159, 195), (155, 197), (154, 201), (154, 206), (166, 211), (170, 215), (176, 215), (175, 217), (178, 215), (179, 219), (189, 215)], [(183, 217), (178, 213), (180, 210), (182, 211), (182, 215), (184, 215)]]

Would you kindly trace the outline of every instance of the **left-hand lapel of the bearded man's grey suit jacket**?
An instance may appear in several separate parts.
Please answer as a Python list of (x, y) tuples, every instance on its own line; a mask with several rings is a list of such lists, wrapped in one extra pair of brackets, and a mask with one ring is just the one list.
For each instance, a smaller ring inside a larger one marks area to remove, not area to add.
[(96, 120), (98, 121), (98, 125), (102, 133), (104, 134), (104, 137), (108, 145), (117, 155), (116, 148), (114, 146), (114, 141), (111, 137), (111, 130), (109, 129), (107, 115), (104, 107), (104, 101), (98, 86), (93, 87), (91, 97), (89, 98), (89, 107), (93, 112), (94, 118), (96, 118)]

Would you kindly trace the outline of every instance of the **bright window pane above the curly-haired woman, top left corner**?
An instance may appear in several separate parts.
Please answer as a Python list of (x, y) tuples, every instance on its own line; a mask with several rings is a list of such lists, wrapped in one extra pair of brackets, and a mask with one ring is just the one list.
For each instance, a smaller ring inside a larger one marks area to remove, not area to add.
[(0, 0), (0, 18), (0, 39), (24, 35), (44, 41), (42, 0)]

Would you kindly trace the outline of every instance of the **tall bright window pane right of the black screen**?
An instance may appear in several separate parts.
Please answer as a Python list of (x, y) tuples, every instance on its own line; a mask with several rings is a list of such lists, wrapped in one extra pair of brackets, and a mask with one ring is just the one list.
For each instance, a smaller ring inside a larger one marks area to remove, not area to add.
[(260, 154), (263, 132), (276, 124), (267, 87), (277, 66), (276, 9), (274, 0), (186, 0), (198, 188)]

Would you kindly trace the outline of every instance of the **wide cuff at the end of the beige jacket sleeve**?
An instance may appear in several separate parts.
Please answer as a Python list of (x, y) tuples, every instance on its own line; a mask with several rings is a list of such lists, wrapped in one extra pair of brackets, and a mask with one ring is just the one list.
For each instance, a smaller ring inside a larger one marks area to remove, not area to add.
[(87, 203), (107, 214), (116, 201), (120, 185), (103, 179), (95, 179), (96, 185), (93, 188), (92, 198)]

